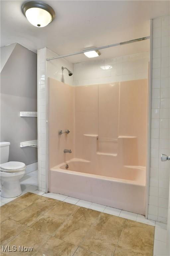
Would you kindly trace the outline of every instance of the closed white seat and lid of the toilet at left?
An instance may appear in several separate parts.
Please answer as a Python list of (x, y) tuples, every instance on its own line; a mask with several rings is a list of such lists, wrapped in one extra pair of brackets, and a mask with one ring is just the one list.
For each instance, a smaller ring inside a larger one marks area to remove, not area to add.
[(7, 162), (0, 164), (0, 171), (2, 172), (18, 172), (25, 169), (26, 165), (22, 162)]

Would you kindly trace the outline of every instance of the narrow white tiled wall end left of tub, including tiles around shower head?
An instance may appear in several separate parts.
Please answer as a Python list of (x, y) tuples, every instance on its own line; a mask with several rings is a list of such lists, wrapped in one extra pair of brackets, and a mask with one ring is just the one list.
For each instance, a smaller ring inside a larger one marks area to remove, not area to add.
[(71, 71), (73, 65), (65, 59), (46, 61), (46, 58), (58, 55), (47, 48), (38, 50), (38, 175), (39, 190), (48, 192), (48, 88), (47, 78), (51, 77), (58, 81), (73, 84), (73, 76), (68, 76), (66, 70), (62, 72), (61, 67), (67, 67)]

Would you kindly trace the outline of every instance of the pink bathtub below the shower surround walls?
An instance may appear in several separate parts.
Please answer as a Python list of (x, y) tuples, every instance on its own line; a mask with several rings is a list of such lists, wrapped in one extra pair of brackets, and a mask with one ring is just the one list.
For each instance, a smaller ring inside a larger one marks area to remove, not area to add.
[(145, 168), (140, 166), (103, 171), (90, 161), (72, 159), (50, 169), (48, 190), (145, 215), (145, 173)]

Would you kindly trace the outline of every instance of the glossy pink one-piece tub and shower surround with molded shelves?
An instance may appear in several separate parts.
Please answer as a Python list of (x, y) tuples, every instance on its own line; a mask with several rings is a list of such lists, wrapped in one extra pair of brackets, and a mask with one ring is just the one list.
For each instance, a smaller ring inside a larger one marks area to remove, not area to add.
[(147, 87), (48, 78), (50, 192), (145, 214)]

